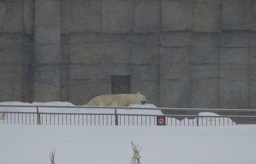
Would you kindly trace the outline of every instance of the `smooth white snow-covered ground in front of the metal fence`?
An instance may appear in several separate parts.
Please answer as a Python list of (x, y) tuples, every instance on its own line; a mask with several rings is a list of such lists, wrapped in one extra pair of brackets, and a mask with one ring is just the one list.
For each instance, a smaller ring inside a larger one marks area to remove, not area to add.
[(256, 125), (0, 124), (0, 141), (0, 164), (50, 164), (52, 149), (56, 149), (55, 164), (130, 164), (131, 141), (142, 146), (142, 164), (256, 164)]

